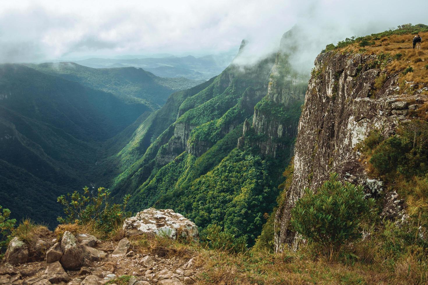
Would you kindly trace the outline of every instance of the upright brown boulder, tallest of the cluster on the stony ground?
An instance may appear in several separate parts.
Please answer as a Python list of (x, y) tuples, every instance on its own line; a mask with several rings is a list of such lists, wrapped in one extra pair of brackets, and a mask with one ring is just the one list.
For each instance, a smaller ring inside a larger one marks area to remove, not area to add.
[(83, 250), (71, 232), (66, 231), (62, 235), (61, 249), (63, 254), (60, 261), (65, 269), (77, 269), (82, 265)]

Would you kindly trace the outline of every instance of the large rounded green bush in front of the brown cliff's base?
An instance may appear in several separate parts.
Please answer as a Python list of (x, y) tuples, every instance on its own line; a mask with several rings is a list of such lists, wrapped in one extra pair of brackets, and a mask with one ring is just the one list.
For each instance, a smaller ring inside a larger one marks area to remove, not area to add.
[(314, 194), (309, 188), (293, 209), (291, 225), (308, 241), (333, 253), (347, 241), (359, 238), (360, 221), (369, 214), (375, 200), (365, 199), (363, 186), (338, 181), (339, 175), (332, 173)]

